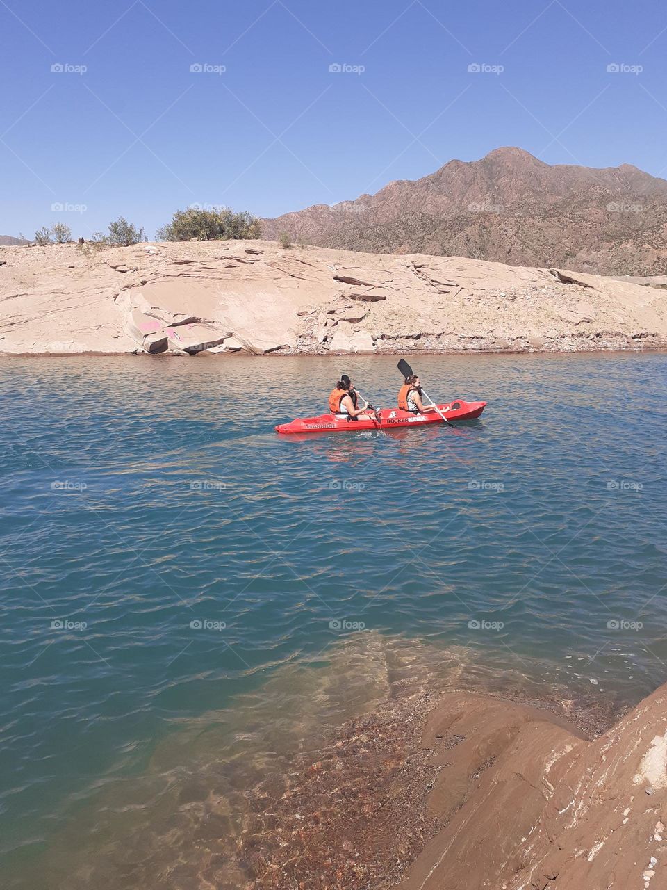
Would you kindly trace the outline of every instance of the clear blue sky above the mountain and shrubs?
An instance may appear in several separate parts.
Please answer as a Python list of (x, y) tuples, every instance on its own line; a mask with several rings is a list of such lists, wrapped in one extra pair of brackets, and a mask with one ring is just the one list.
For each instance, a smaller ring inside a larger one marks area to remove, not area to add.
[(0, 0), (0, 39), (2, 234), (272, 216), (501, 145), (667, 174), (660, 2)]

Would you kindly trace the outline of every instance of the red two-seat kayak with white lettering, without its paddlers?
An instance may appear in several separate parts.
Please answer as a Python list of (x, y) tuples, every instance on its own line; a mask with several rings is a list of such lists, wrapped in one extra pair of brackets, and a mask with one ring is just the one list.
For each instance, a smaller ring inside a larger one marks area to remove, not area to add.
[[(486, 401), (463, 401), (457, 399), (448, 405), (438, 408), (449, 421), (473, 420), (479, 417), (486, 408)], [(412, 414), (399, 408), (383, 408), (378, 411), (380, 421), (374, 415), (359, 417), (358, 420), (342, 420), (333, 414), (320, 414), (319, 417), (297, 417), (289, 424), (279, 424), (277, 433), (355, 433), (360, 430), (392, 430), (398, 426), (422, 426), (424, 424), (442, 424), (442, 417), (437, 411), (428, 414)]]

